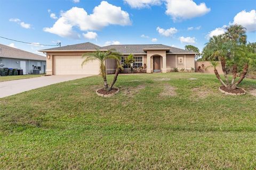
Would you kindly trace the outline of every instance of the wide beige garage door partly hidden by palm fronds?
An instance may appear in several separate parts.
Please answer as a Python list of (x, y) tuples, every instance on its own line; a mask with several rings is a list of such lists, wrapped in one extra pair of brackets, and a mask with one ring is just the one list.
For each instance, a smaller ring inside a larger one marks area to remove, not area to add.
[(79, 56), (53, 56), (53, 74), (99, 74), (99, 61), (89, 62), (84, 64), (84, 58)]

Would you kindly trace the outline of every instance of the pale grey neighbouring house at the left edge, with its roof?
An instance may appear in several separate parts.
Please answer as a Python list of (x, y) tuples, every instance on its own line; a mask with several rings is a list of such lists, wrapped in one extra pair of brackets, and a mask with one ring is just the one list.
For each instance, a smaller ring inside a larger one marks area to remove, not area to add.
[(38, 69), (43, 74), (46, 57), (0, 44), (0, 67), (22, 69), (23, 74), (31, 74), (33, 69)]

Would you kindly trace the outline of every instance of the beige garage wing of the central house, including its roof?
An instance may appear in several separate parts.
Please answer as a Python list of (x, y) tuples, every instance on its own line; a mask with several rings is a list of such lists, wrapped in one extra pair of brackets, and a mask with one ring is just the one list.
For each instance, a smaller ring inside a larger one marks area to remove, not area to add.
[(81, 43), (57, 48), (43, 49), (39, 52), (46, 53), (46, 74), (67, 75), (67, 74), (100, 74), (99, 61), (90, 61), (82, 66), (85, 53), (92, 53), (102, 50), (100, 46), (92, 43)]

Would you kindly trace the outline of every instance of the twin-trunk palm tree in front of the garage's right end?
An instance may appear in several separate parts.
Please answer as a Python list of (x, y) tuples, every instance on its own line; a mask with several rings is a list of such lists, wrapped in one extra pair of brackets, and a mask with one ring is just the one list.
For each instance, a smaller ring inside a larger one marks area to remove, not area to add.
[(104, 90), (110, 91), (113, 88), (113, 86), (117, 80), (119, 69), (121, 67), (119, 67), (119, 65), (117, 64), (118, 73), (115, 74), (113, 83), (111, 84), (111, 86), (109, 88), (108, 83), (107, 83), (107, 73), (106, 73), (105, 63), (108, 58), (115, 60), (116, 63), (120, 63), (121, 56), (122, 55), (120, 53), (116, 52), (115, 49), (109, 49), (106, 52), (102, 52), (99, 49), (97, 49), (95, 52), (83, 54), (83, 57), (85, 58), (85, 60), (83, 61), (82, 66), (90, 61), (98, 60), (100, 62), (100, 73), (102, 75), (103, 82), (104, 82)]

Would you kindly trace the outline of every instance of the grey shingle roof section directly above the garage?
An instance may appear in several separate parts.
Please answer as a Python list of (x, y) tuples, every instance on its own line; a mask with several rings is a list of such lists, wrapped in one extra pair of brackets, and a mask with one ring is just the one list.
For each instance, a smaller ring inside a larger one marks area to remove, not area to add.
[(56, 47), (56, 48), (49, 48), (49, 49), (42, 49), (40, 52), (44, 51), (51, 51), (51, 50), (95, 50), (95, 49), (100, 49), (100, 46), (97, 46), (92, 43), (81, 43), (81, 44), (74, 44), (74, 45), (68, 45), (68, 46), (63, 46), (63, 47)]

